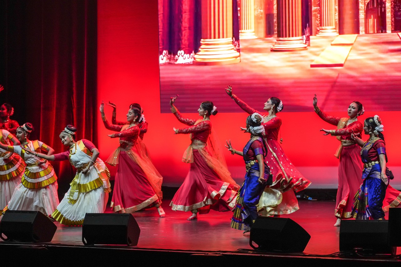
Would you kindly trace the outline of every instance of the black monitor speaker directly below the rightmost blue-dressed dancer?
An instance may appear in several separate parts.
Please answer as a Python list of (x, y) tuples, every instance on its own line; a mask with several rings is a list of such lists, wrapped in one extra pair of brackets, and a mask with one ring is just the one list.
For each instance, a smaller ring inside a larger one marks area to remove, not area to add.
[(370, 250), (374, 254), (395, 255), (396, 247), (389, 245), (388, 220), (342, 220), (340, 251)]

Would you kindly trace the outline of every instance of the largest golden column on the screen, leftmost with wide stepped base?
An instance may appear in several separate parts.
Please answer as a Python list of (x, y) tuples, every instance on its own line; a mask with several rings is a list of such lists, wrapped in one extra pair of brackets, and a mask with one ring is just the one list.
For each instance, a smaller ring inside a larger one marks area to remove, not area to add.
[(240, 61), (233, 45), (232, 0), (202, 0), (202, 39), (194, 64), (223, 65)]

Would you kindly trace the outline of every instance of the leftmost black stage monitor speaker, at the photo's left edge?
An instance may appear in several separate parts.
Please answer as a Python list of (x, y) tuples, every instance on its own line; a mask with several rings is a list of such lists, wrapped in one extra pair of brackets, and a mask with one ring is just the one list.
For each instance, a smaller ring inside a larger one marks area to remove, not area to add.
[(50, 242), (56, 230), (57, 226), (40, 211), (7, 210), (0, 223), (4, 241)]

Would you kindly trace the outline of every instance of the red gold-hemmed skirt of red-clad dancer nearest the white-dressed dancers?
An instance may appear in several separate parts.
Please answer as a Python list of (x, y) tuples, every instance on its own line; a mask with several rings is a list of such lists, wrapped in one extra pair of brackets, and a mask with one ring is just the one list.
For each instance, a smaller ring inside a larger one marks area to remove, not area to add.
[(132, 213), (160, 201), (142, 168), (121, 151), (118, 156), (111, 207), (114, 212)]

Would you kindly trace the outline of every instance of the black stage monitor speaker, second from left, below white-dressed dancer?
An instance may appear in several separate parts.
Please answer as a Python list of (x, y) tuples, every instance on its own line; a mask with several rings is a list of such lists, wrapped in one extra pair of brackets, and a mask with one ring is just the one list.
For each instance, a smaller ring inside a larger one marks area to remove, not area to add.
[(82, 242), (84, 245), (136, 246), (140, 233), (130, 213), (87, 213), (82, 225)]

